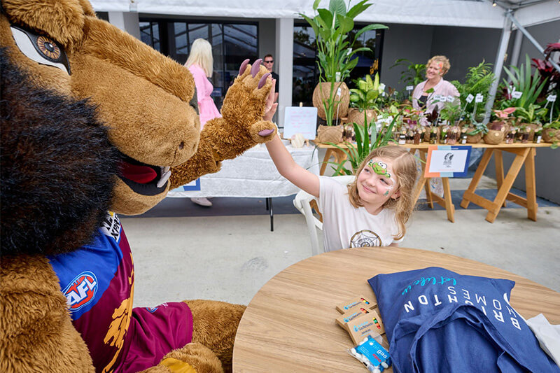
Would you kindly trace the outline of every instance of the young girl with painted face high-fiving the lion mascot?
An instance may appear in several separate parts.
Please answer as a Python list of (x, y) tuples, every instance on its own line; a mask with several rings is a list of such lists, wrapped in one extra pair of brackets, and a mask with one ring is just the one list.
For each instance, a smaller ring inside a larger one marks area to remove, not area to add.
[(360, 246), (398, 246), (414, 201), (414, 156), (400, 146), (368, 155), (349, 185), (311, 174), (294, 162), (278, 136), (267, 143), (276, 169), (298, 188), (318, 197), (325, 251)]

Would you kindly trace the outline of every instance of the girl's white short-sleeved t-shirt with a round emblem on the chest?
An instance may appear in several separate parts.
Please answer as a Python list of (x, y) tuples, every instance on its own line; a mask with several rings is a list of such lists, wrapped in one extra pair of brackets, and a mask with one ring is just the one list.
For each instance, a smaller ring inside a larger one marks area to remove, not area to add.
[(350, 203), (348, 188), (327, 176), (319, 176), (319, 210), (323, 214), (325, 251), (362, 246), (388, 246), (400, 242), (395, 211), (382, 209), (377, 215)]

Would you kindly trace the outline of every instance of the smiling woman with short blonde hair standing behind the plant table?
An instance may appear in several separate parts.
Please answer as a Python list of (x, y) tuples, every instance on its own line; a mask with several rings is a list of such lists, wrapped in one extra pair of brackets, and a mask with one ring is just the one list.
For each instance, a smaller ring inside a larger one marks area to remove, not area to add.
[[(437, 106), (437, 111), (441, 111), (444, 101), (438, 100), (434, 102), (437, 96), (453, 96), (458, 97), (459, 92), (457, 88), (443, 79), (443, 76), (449, 71), (451, 64), (449, 59), (445, 56), (433, 56), (426, 64), (426, 79), (419, 85), (416, 85), (414, 92), (412, 92), (412, 106), (416, 110), (426, 111), (431, 113)], [(433, 88), (432, 93), (426, 91)], [(423, 125), (427, 125), (426, 119), (422, 120)]]

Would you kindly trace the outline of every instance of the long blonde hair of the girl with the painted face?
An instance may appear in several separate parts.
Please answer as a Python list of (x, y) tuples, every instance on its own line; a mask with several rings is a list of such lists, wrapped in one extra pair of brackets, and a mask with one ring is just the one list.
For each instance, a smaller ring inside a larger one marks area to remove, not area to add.
[(400, 195), (397, 199), (389, 198), (383, 208), (395, 210), (395, 220), (398, 225), (398, 234), (395, 235), (395, 239), (401, 239), (405, 236), (407, 230), (405, 223), (407, 223), (414, 209), (414, 185), (418, 174), (414, 155), (410, 154), (407, 149), (396, 145), (381, 146), (381, 148), (372, 150), (358, 167), (354, 181), (348, 185), (348, 197), (350, 203), (356, 209), (363, 206), (363, 202), (358, 195), (358, 175), (365, 165), (374, 158), (391, 161), (393, 174), (397, 177), (397, 190), (400, 191)]

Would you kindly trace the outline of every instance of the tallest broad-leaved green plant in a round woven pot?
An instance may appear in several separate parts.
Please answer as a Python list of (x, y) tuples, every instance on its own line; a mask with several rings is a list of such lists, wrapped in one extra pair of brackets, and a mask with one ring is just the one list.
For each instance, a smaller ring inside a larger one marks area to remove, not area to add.
[[(370, 50), (365, 47), (353, 49), (356, 39), (365, 31), (387, 27), (383, 24), (368, 24), (353, 34), (350, 31), (354, 28), (354, 18), (372, 6), (372, 3), (363, 0), (351, 8), (346, 8), (344, 0), (330, 0), (327, 9), (318, 8), (320, 1), (315, 0), (313, 4), (316, 11), (313, 18), (301, 13), (300, 15), (311, 25), (316, 35), (319, 83), (314, 90), (313, 103), (318, 109), (318, 115), (325, 119), (328, 127), (333, 124), (335, 116), (337, 123), (338, 118), (347, 113), (349, 90), (344, 79), (350, 76), (350, 72), (358, 64), (358, 57), (354, 55), (356, 52)], [(342, 140), (342, 126), (340, 127), (335, 133), (339, 133), (339, 139)], [(332, 139), (338, 136), (329, 135), (329, 132), (332, 130), (319, 127), (318, 141), (323, 142), (323, 136), (330, 136)]]

